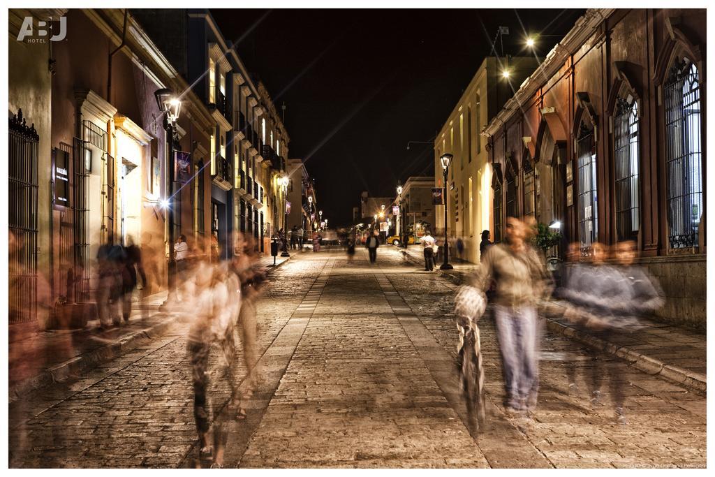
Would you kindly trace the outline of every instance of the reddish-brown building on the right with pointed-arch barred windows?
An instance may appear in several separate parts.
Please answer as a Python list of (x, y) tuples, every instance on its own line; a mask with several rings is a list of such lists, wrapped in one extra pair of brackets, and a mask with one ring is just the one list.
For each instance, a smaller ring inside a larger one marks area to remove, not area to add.
[(510, 215), (558, 220), (581, 260), (635, 240), (666, 294), (659, 316), (701, 329), (705, 16), (588, 10), (485, 129), (493, 235)]

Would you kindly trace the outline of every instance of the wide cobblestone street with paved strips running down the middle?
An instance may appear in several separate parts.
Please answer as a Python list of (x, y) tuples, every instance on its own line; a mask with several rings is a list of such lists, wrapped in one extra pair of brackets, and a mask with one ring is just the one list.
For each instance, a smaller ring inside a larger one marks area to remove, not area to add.
[[(261, 380), (230, 420), (225, 467), (649, 468), (706, 464), (706, 397), (618, 361), (628, 424), (603, 385), (591, 408), (583, 345), (546, 332), (536, 413), (506, 415), (493, 320), (480, 321), (488, 423), (465, 425), (455, 367), (456, 286), (395, 247), (294, 253), (258, 305)], [(20, 467), (194, 467), (187, 323), (119, 359), (11, 403)], [(616, 359), (598, 355), (598, 360)], [(215, 364), (215, 363), (214, 363)], [(214, 365), (213, 368), (217, 366)], [(569, 393), (568, 373), (578, 390)], [(242, 380), (242, 365), (234, 370)], [(230, 389), (209, 393), (225, 412)], [(11, 464), (12, 465), (12, 464)]]

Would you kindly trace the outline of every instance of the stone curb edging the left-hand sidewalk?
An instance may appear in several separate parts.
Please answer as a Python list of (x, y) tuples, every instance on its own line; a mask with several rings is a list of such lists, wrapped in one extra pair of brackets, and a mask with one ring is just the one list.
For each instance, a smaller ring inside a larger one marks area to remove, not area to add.
[[(267, 275), (270, 275), (273, 270), (283, 265), (285, 262), (290, 260), (290, 258), (291, 257), (287, 257), (286, 260), (277, 263), (275, 266), (268, 265)], [(158, 314), (162, 313), (157, 313), (157, 315)], [(61, 383), (72, 375), (79, 375), (87, 370), (96, 368), (102, 363), (107, 363), (114, 358), (118, 358), (124, 353), (134, 350), (134, 348), (137, 348), (138, 345), (142, 344), (146, 340), (157, 340), (162, 338), (172, 325), (180, 323), (181, 321), (181, 318), (177, 318), (175, 315), (169, 315), (164, 320), (150, 326), (149, 328), (137, 330), (134, 333), (119, 338), (119, 340), (115, 343), (109, 343), (108, 345), (97, 348), (96, 350), (85, 353), (84, 355), (69, 358), (69, 360), (46, 368), (40, 373), (11, 386), (8, 389), (9, 403), (13, 403), (34, 390), (44, 388), (45, 386), (54, 383)]]

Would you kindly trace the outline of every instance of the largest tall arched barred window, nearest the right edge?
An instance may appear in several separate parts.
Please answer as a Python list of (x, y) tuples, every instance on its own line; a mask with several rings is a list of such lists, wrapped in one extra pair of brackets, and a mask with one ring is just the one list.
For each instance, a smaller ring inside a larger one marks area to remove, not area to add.
[(669, 245), (695, 247), (703, 214), (698, 69), (688, 59), (676, 60), (663, 92)]

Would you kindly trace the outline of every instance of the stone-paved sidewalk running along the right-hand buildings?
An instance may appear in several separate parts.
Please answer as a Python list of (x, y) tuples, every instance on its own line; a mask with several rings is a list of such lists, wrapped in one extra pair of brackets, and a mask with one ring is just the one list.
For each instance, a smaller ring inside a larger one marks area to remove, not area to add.
[[(409, 247), (406, 253), (415, 265), (424, 266), (421, 252), (419, 247)], [(467, 262), (456, 262), (453, 266), (454, 270), (438, 270), (437, 273), (457, 285), (461, 284), (465, 275), (478, 269), (478, 265)], [(644, 328), (614, 333), (606, 343), (586, 328), (563, 318), (563, 311), (558, 313), (563, 307), (558, 304), (550, 304), (548, 310), (550, 313), (546, 318), (551, 330), (628, 360), (646, 373), (658, 374), (693, 390), (706, 390), (707, 337), (704, 333), (656, 320), (644, 320)]]

